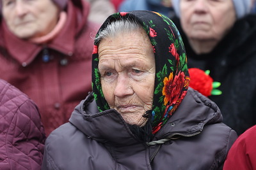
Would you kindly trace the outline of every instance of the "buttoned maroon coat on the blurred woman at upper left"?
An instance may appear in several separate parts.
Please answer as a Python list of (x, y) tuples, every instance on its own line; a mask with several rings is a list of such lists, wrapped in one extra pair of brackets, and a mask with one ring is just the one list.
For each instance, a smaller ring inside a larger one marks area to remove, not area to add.
[(0, 78), (35, 101), (46, 134), (68, 122), (92, 88), (92, 37), (99, 26), (87, 21), (89, 8), (84, 0), (68, 1), (66, 24), (45, 46), (15, 37), (0, 18)]

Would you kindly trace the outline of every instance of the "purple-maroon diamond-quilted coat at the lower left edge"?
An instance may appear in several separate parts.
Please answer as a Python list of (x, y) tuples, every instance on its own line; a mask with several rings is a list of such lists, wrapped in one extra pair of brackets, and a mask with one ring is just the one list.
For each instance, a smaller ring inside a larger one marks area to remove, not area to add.
[(40, 169), (44, 141), (44, 127), (35, 103), (0, 80), (0, 169)]

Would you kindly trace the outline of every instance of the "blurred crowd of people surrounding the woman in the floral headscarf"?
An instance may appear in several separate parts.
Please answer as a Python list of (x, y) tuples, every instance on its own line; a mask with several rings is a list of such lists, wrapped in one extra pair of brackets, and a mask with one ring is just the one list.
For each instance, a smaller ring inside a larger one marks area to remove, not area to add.
[[(170, 18), (188, 67), (209, 71), (220, 84), (212, 84), (207, 97), (220, 108), (223, 123), (241, 135), (224, 169), (235, 163), (256, 168), (248, 157), (237, 162), (235, 156), (246, 154), (243, 138), (256, 134), (254, 127), (244, 135), (256, 125), (255, 0), (0, 0), (0, 146), (6, 145), (0, 150), (19, 150), (13, 157), (1, 154), (0, 169), (40, 169), (47, 136), (93, 90), (97, 31), (109, 15), (134, 10)], [(20, 161), (20, 155), (26, 157)]]

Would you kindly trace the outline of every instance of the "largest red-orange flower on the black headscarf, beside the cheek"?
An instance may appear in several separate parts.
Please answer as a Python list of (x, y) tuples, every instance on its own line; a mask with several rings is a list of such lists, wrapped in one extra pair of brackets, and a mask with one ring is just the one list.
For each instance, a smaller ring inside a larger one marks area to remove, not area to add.
[(184, 87), (185, 74), (184, 72), (179, 72), (173, 78), (173, 73), (170, 73), (169, 78), (164, 78), (164, 87), (162, 90), (164, 96), (164, 105), (172, 105), (175, 104), (179, 99), (180, 92)]

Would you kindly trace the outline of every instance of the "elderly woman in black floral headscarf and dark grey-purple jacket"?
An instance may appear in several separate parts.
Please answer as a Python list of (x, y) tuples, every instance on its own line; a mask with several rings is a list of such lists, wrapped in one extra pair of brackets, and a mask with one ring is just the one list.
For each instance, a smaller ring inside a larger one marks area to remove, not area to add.
[(42, 169), (220, 169), (237, 138), (211, 100), (188, 87), (182, 39), (152, 11), (100, 27), (93, 92), (47, 138)]

